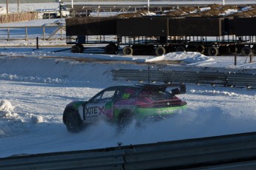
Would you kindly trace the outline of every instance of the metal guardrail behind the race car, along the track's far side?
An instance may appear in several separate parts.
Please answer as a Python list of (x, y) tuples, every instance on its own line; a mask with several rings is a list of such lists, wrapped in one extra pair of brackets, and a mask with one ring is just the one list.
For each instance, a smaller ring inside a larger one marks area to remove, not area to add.
[(114, 81), (160, 81), (191, 84), (220, 84), (223, 86), (256, 86), (256, 75), (224, 72), (181, 72), (171, 70), (112, 70)]

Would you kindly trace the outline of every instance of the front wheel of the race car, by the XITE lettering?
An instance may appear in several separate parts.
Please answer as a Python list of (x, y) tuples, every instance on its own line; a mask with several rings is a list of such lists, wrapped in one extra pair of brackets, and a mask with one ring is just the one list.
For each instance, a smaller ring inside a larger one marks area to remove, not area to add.
[(68, 132), (78, 133), (82, 131), (83, 124), (80, 115), (73, 108), (66, 108), (63, 113), (63, 122), (65, 123)]

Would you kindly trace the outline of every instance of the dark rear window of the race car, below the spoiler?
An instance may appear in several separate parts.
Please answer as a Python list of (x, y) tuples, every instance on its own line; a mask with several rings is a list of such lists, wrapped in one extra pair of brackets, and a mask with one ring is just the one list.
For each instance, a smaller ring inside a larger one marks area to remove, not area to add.
[(171, 92), (168, 92), (165, 89), (142, 89), (139, 97), (151, 98), (154, 101), (174, 98), (174, 96), (171, 95)]

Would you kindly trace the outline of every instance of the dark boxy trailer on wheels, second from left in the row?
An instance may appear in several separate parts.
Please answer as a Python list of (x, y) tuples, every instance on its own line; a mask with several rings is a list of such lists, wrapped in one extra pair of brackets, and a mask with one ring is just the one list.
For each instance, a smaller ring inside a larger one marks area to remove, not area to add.
[(125, 55), (162, 55), (168, 45), (168, 17), (119, 18), (116, 21), (119, 45)]

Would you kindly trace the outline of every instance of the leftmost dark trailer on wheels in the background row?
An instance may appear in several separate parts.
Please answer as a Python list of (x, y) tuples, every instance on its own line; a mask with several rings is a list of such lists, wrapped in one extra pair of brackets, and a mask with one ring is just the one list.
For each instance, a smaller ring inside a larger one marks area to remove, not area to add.
[[(71, 52), (83, 52), (82, 44), (109, 44), (107, 53), (116, 51), (116, 18), (114, 17), (75, 17), (66, 18), (67, 44), (75, 44)], [(105, 38), (112, 35), (112, 40)], [(73, 36), (76, 36), (73, 41)]]

